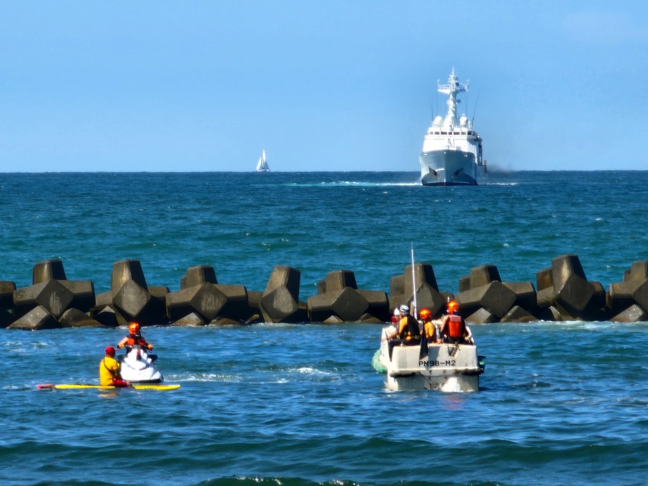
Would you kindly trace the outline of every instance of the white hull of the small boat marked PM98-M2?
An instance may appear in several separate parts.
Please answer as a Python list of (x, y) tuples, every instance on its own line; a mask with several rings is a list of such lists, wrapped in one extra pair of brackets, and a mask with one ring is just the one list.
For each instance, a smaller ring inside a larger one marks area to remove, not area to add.
[(482, 359), (475, 345), (428, 345), (427, 355), (420, 358), (419, 345), (382, 341), (373, 367), (387, 390), (476, 392), (484, 372)]

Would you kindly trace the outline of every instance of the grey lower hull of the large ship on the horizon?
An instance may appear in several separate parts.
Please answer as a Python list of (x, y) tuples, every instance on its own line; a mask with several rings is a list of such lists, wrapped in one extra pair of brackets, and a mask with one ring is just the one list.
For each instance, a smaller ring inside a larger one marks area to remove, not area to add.
[(424, 186), (476, 186), (475, 154), (462, 150), (432, 150), (420, 155)]

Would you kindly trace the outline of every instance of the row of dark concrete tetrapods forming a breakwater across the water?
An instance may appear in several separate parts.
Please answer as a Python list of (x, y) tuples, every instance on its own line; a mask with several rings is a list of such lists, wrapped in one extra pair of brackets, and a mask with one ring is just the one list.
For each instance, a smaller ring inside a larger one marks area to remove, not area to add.
[(496, 266), (471, 268), (455, 293), (439, 289), (429, 263), (406, 266), (391, 277), (389, 293), (358, 288), (352, 270), (332, 270), (317, 293), (300, 300), (300, 271), (275, 266), (265, 290), (219, 284), (212, 266), (187, 268), (180, 289), (151, 286), (137, 259), (117, 261), (110, 290), (95, 293), (92, 281), (68, 280), (60, 259), (35, 263), (32, 285), (0, 281), (0, 327), (56, 329), (148, 325), (223, 325), (258, 322), (388, 322), (391, 310), (411, 304), (436, 318), (457, 300), (471, 324), (534, 321), (648, 320), (648, 261), (634, 261), (620, 281), (606, 287), (588, 281), (580, 259), (565, 254), (536, 272), (536, 282), (502, 281)]

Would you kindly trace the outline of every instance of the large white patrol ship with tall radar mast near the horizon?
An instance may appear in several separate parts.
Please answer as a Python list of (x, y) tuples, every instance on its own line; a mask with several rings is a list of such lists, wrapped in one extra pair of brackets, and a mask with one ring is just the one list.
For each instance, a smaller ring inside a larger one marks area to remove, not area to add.
[(447, 85), (437, 82), (439, 93), (447, 94), (445, 119), (436, 116), (427, 129), (420, 154), (420, 182), (424, 186), (476, 186), (486, 173), (481, 158), (481, 137), (465, 114), (457, 119), (457, 94), (470, 89), (468, 83), (450, 73)]

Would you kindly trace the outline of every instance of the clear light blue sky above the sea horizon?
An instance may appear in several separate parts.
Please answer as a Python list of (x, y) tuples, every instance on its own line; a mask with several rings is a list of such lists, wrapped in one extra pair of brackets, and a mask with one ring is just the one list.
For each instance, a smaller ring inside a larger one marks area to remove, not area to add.
[[(0, 172), (647, 170), (648, 3), (0, 0)], [(642, 150), (644, 150), (642, 152)]]

